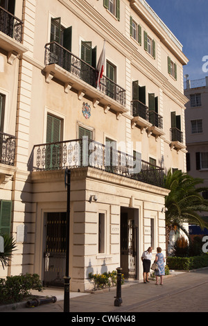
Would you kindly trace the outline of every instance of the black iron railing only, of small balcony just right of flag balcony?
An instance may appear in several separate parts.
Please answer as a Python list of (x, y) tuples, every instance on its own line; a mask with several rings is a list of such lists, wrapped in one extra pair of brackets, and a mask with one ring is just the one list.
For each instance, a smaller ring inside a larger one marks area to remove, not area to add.
[(149, 110), (148, 106), (138, 100), (131, 101), (132, 116), (141, 117), (160, 129), (163, 128), (163, 117), (153, 110)]

